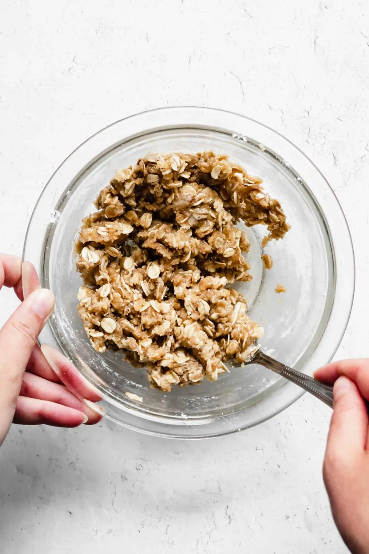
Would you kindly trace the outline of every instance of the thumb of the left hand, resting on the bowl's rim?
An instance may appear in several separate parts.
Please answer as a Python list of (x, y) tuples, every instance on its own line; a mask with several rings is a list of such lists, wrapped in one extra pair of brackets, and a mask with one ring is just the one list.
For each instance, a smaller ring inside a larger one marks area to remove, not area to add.
[[(0, 410), (9, 425), (25, 367), (54, 304), (54, 295), (49, 290), (35, 290), (0, 331)], [(7, 423), (4, 422), (5, 425)]]

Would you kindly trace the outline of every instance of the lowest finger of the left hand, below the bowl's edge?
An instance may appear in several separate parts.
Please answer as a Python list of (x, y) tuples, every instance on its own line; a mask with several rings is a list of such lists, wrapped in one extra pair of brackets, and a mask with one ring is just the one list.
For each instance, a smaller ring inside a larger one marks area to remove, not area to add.
[(86, 423), (86, 414), (73, 408), (54, 404), (38, 398), (19, 396), (13, 423), (27, 425), (54, 425), (54, 427), (79, 427)]

